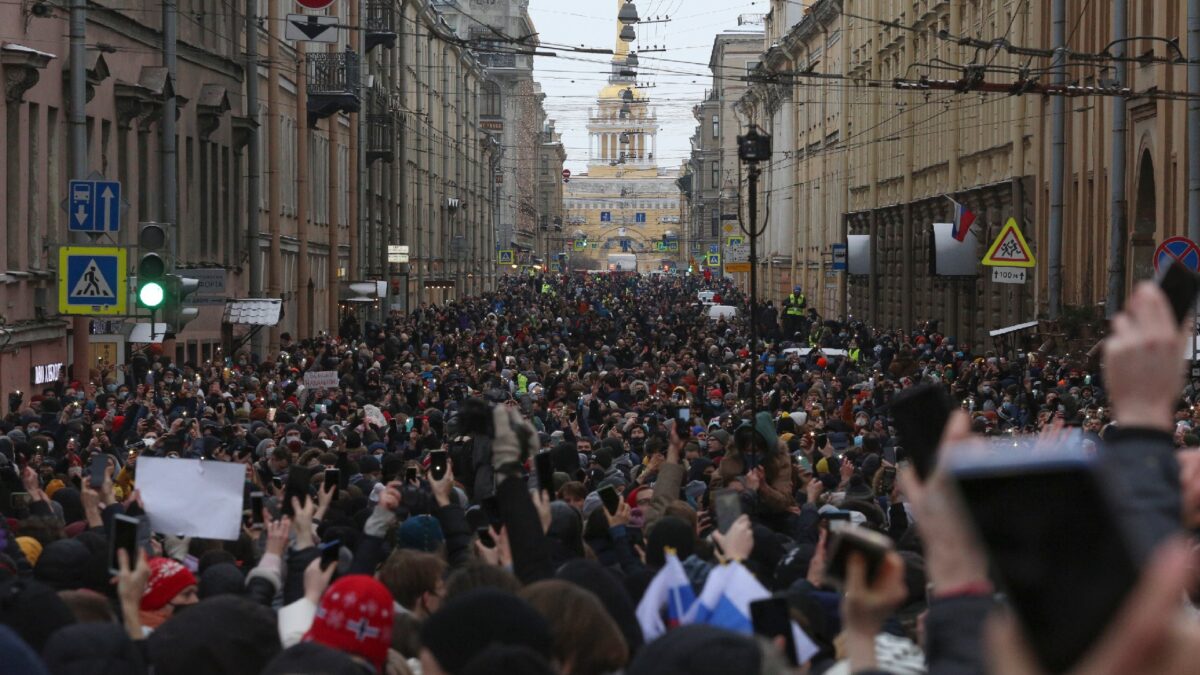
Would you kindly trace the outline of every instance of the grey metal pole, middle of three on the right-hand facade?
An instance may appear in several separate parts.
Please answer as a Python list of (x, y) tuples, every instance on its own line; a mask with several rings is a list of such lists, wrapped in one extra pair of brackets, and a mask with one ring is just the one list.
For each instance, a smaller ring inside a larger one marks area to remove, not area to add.
[[(1196, 0), (1193, 0), (1193, 4), (1196, 4)], [(1126, 43), (1122, 41), (1126, 37), (1126, 26), (1128, 24), (1127, 10), (1128, 0), (1112, 0), (1112, 48), (1116, 50), (1116, 56), (1124, 56), (1126, 54)], [(1116, 76), (1116, 86), (1118, 89), (1123, 88), (1126, 83), (1126, 64), (1123, 61), (1112, 61), (1112, 68)], [(1193, 103), (1188, 103), (1189, 108)], [(1112, 318), (1121, 309), (1121, 300), (1124, 295), (1124, 252), (1128, 219), (1128, 202), (1126, 201), (1127, 112), (1126, 100), (1121, 96), (1115, 96), (1112, 98), (1112, 169), (1109, 172), (1109, 191), (1112, 193), (1109, 214), (1109, 292), (1104, 303), (1104, 316), (1108, 318)], [(1192, 114), (1190, 110), (1188, 114)], [(1195, 137), (1189, 133), (1188, 138)], [(1189, 157), (1188, 161), (1195, 162), (1196, 159)], [(1200, 177), (1189, 173), (1188, 178), (1190, 183), (1193, 178)], [(1188, 193), (1189, 207), (1192, 195), (1192, 192)]]

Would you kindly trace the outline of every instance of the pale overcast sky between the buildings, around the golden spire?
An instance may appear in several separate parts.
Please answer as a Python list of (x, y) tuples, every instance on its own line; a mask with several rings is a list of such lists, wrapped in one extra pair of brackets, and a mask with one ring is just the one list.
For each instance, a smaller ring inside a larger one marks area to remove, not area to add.
[[(762, 14), (767, 0), (635, 0), (643, 20), (671, 17), (667, 23), (636, 26), (635, 50), (666, 48), (640, 54), (640, 82), (653, 84), (646, 92), (659, 114), (660, 166), (678, 166), (690, 153), (688, 139), (696, 126), (691, 107), (712, 86), (708, 56), (713, 36), (738, 30), (739, 16)], [(529, 14), (542, 43), (612, 49), (616, 38), (617, 0), (530, 0)], [(742, 30), (761, 30), (745, 25)], [(542, 50), (556, 50), (542, 47)], [(556, 50), (559, 58), (535, 59), (534, 78), (546, 94), (546, 112), (557, 121), (566, 147), (566, 166), (584, 171), (588, 159), (587, 117), (596, 92), (607, 84), (605, 54)]]

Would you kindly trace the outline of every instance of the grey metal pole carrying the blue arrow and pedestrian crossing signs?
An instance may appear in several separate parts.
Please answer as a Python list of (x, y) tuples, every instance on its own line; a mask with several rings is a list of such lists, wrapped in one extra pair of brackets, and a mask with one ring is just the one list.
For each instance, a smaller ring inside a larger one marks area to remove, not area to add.
[[(88, 47), (84, 40), (88, 28), (88, 0), (71, 0), (71, 178), (88, 178)], [(16, 124), (10, 120), (10, 124)], [(16, 223), (12, 227), (17, 227)], [(86, 244), (88, 237), (72, 232), (72, 244)], [(59, 274), (66, 274), (60, 269)], [(79, 382), (89, 378), (88, 334), (91, 319), (77, 316), (71, 321), (72, 376)]]

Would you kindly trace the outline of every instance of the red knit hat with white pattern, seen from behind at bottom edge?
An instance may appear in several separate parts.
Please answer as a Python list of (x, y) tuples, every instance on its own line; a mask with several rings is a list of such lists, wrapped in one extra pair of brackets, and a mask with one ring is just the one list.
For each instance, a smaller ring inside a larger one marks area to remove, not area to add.
[(383, 670), (391, 646), (391, 593), (372, 577), (342, 577), (320, 597), (304, 641), (361, 657)]

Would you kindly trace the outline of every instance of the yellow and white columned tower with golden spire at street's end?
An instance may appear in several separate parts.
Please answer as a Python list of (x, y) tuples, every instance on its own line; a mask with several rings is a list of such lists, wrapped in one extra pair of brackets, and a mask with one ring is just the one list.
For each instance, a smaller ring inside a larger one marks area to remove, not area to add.
[(608, 84), (588, 114), (588, 174), (596, 178), (653, 178), (658, 117), (637, 88), (637, 54), (629, 50), (634, 28), (619, 19), (625, 0), (617, 0), (616, 47)]

